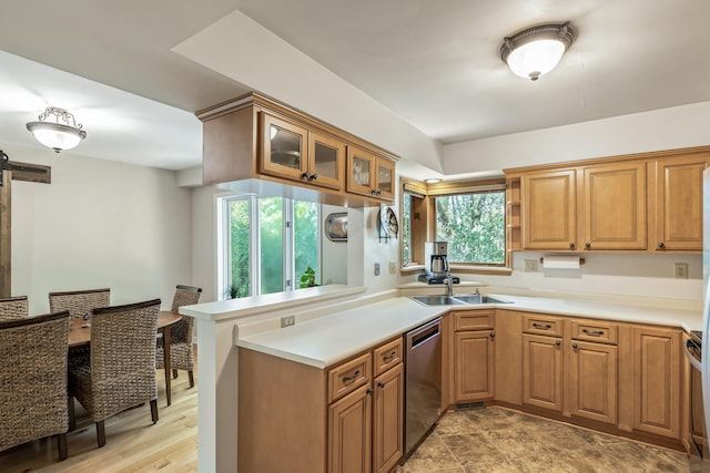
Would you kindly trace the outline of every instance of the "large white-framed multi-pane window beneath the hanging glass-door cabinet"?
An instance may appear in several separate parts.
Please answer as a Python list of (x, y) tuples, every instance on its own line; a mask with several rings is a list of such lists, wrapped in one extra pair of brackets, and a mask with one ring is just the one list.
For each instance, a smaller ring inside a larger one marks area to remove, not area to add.
[(308, 267), (318, 281), (318, 204), (253, 195), (217, 200), (223, 298), (298, 289)]

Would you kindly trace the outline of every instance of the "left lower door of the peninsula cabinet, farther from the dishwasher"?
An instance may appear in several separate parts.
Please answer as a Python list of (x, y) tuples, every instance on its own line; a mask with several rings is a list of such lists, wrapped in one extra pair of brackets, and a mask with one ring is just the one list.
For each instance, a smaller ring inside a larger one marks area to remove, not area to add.
[(369, 384), (328, 408), (329, 473), (371, 473), (372, 409)]

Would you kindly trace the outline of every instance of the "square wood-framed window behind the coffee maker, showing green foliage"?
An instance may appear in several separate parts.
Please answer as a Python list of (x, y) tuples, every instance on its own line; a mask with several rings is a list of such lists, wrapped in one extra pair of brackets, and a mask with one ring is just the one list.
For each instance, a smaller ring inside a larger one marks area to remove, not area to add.
[(506, 263), (505, 191), (436, 197), (436, 240), (448, 241), (449, 263)]

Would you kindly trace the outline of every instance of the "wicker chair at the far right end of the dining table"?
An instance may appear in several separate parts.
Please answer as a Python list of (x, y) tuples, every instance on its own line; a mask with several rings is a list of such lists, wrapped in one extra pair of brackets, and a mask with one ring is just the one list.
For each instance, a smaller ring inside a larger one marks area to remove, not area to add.
[[(200, 301), (200, 295), (202, 288), (194, 286), (175, 286), (175, 294), (173, 296), (173, 305), (171, 310), (178, 312), (178, 309), (182, 306), (190, 306)], [(179, 322), (170, 326), (170, 364), (173, 370), (173, 378), (178, 378), (178, 370), (187, 371), (190, 379), (190, 388), (195, 385), (194, 380), (194, 366), (195, 356), (194, 348), (192, 346), (192, 329), (194, 327), (194, 319), (190, 316), (182, 316)], [(162, 369), (163, 364), (163, 340), (158, 340), (158, 350), (155, 351), (155, 368)]]

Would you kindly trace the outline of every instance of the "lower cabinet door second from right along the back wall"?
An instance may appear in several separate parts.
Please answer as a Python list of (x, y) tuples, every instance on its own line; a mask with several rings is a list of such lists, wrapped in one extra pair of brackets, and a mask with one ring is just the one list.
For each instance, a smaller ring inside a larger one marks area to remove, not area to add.
[(617, 347), (584, 341), (570, 343), (571, 414), (616, 425)]

